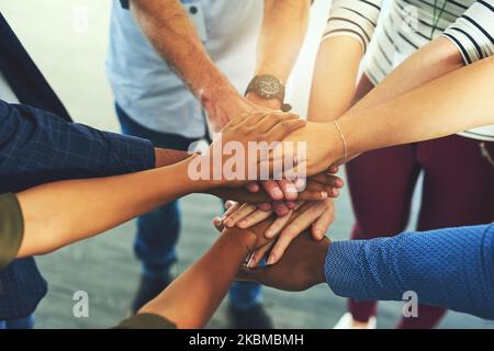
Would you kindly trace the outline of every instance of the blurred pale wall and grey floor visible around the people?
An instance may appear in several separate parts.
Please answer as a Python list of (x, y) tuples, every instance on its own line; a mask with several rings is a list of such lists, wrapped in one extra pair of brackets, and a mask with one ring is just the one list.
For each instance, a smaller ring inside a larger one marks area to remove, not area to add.
[[(72, 117), (97, 128), (120, 132), (104, 72), (111, 1), (116, 0), (0, 0), (0, 11)], [(301, 115), (306, 112), (314, 57), (329, 5), (330, 0), (315, 0), (306, 42), (290, 80), (289, 101)], [(188, 196), (181, 204), (183, 229), (177, 274), (215, 240), (217, 234), (211, 219), (222, 212), (220, 201), (206, 195)], [(415, 199), (411, 228), (417, 204)], [(336, 214), (328, 236), (343, 240), (353, 222), (347, 190), (336, 202)], [(37, 308), (36, 327), (108, 328), (126, 317), (139, 278), (133, 237), (134, 223), (130, 222), (98, 238), (38, 258), (49, 292)], [(89, 294), (87, 318), (72, 315), (77, 291)], [(346, 301), (332, 294), (326, 285), (303, 293), (266, 288), (265, 303), (278, 328), (332, 328), (346, 312)], [(393, 328), (403, 304), (386, 302), (379, 306), (378, 327)], [(225, 306), (209, 327), (227, 327)], [(448, 313), (439, 328), (494, 328), (494, 324)]]

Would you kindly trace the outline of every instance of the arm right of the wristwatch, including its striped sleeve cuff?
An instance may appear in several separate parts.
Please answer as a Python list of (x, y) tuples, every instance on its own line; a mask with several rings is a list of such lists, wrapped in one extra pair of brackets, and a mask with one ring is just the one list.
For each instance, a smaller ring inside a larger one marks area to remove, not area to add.
[(353, 100), (360, 61), (372, 38), (382, 0), (334, 0), (312, 82), (308, 121), (327, 122)]

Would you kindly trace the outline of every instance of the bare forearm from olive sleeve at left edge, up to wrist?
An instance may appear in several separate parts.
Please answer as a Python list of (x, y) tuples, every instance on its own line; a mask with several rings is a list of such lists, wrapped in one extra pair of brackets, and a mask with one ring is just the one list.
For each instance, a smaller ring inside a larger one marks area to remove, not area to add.
[(207, 189), (206, 182), (189, 179), (187, 167), (183, 161), (139, 173), (48, 183), (19, 193), (25, 225), (18, 257), (50, 252)]

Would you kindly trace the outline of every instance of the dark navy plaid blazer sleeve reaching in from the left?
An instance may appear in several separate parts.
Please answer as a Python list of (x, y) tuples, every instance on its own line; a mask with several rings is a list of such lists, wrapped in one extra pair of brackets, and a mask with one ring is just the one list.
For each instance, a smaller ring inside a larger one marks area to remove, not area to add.
[(0, 101), (0, 193), (154, 166), (154, 147), (148, 140), (100, 132), (43, 110)]

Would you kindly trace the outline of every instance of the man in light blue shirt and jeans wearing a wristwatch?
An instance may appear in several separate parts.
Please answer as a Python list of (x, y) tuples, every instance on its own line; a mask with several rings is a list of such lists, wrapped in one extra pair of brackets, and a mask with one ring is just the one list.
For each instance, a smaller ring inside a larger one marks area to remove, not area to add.
[[(209, 128), (218, 132), (229, 116), (260, 106), (287, 111), (284, 82), (305, 35), (310, 4), (115, 0), (106, 70), (123, 133), (187, 150), (207, 138)], [(263, 186), (283, 200), (285, 189), (276, 182)], [(143, 273), (134, 312), (170, 283), (179, 233), (177, 202), (138, 218), (134, 250)], [(260, 285), (235, 283), (229, 316), (236, 328), (270, 328)]]

